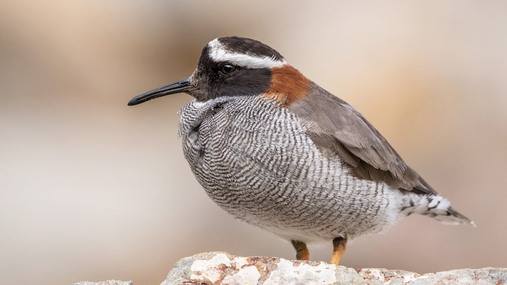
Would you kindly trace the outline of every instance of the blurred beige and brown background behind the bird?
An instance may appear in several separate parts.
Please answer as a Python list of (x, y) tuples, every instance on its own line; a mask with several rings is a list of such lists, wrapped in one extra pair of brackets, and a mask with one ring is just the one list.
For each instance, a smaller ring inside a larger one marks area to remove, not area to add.
[[(159, 284), (206, 251), (292, 259), (195, 181), (172, 95), (224, 35), (263, 41), (363, 113), (477, 223), (409, 217), (342, 265), (507, 267), (507, 2), (28, 1), (0, 4), (0, 283)], [(310, 248), (329, 260), (331, 245)]]

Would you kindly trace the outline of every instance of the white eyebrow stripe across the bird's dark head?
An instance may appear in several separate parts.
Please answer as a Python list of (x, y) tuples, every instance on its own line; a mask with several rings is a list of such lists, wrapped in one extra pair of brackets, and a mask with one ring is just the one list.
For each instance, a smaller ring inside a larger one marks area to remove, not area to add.
[(277, 60), (274, 55), (269, 56), (251, 56), (243, 53), (230, 52), (224, 49), (218, 39), (208, 43), (209, 57), (216, 62), (229, 61), (238, 66), (248, 68), (272, 68), (285, 65), (285, 59)]

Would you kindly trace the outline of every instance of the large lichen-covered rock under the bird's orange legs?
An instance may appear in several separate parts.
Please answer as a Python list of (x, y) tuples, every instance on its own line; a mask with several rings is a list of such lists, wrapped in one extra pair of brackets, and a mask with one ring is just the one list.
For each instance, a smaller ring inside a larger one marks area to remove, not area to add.
[(202, 253), (178, 261), (161, 285), (172, 284), (506, 284), (507, 268), (458, 269), (418, 274), (352, 269), (321, 261), (236, 257)]

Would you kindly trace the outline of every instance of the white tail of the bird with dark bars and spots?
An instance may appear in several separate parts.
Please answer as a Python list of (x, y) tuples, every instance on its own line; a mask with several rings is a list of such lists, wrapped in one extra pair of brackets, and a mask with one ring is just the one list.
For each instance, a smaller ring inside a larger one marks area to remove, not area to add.
[(404, 196), (402, 215), (409, 216), (413, 213), (431, 217), (447, 225), (464, 225), (475, 223), (451, 207), (451, 203), (440, 195), (408, 193)]

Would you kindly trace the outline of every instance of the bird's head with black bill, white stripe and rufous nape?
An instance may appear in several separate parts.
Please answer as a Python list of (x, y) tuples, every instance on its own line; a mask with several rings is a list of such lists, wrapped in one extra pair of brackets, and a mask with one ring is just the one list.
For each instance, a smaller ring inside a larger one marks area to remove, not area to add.
[(136, 96), (128, 104), (185, 92), (198, 101), (264, 94), (288, 105), (306, 97), (309, 89), (309, 80), (276, 50), (256, 40), (223, 37), (204, 46), (192, 76)]

